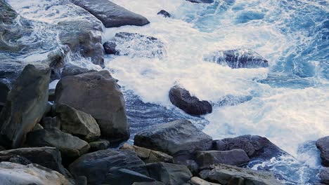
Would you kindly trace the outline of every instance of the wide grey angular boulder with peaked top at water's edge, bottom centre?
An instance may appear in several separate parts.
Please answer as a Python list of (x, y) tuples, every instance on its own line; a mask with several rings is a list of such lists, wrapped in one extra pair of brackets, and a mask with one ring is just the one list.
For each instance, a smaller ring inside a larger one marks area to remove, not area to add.
[(187, 120), (177, 120), (151, 126), (138, 133), (134, 145), (162, 151), (174, 157), (193, 156), (212, 147), (212, 137)]

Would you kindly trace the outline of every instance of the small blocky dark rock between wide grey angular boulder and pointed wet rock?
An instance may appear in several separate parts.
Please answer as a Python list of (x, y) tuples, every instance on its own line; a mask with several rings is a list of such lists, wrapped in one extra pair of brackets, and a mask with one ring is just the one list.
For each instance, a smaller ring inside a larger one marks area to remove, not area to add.
[(243, 165), (248, 163), (250, 158), (242, 149), (231, 151), (198, 151), (196, 160), (200, 169), (204, 169), (214, 164)]

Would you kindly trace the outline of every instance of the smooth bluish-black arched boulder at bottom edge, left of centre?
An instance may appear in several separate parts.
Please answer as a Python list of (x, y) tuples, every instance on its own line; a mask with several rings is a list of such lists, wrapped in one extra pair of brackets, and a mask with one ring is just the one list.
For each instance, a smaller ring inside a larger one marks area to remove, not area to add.
[(86, 176), (88, 184), (102, 184), (110, 169), (127, 169), (148, 175), (146, 165), (134, 151), (112, 149), (87, 153), (69, 167), (75, 176)]

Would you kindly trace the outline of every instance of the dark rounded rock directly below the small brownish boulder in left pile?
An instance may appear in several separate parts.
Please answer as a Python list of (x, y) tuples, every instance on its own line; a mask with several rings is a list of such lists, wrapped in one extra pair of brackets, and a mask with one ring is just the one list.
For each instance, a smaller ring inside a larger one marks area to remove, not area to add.
[(36, 130), (27, 135), (29, 146), (53, 146), (60, 150), (63, 160), (71, 160), (89, 151), (89, 144), (79, 137), (64, 133), (57, 128)]

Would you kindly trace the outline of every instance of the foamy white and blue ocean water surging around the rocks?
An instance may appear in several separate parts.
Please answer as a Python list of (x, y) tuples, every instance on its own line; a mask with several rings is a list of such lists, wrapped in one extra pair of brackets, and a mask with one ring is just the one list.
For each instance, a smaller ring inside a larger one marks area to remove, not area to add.
[[(56, 0), (9, 2), (23, 16), (43, 24), (73, 16), (70, 7)], [(130, 55), (105, 58), (105, 69), (122, 85), (131, 125), (129, 142), (148, 125), (187, 118), (214, 139), (261, 135), (292, 155), (253, 161), (250, 168), (271, 170), (285, 184), (319, 181), (314, 141), (329, 135), (329, 1), (113, 2), (151, 23), (105, 29), (104, 42), (117, 32), (134, 32), (160, 39), (166, 51), (162, 57), (138, 57), (140, 45), (139, 50), (127, 50)], [(162, 9), (172, 18), (157, 15)], [(216, 50), (237, 48), (256, 51), (269, 60), (269, 68), (231, 69), (205, 61)], [(97, 68), (86, 60), (71, 62)], [(175, 84), (211, 101), (212, 114), (189, 116), (174, 107), (168, 92)]]

